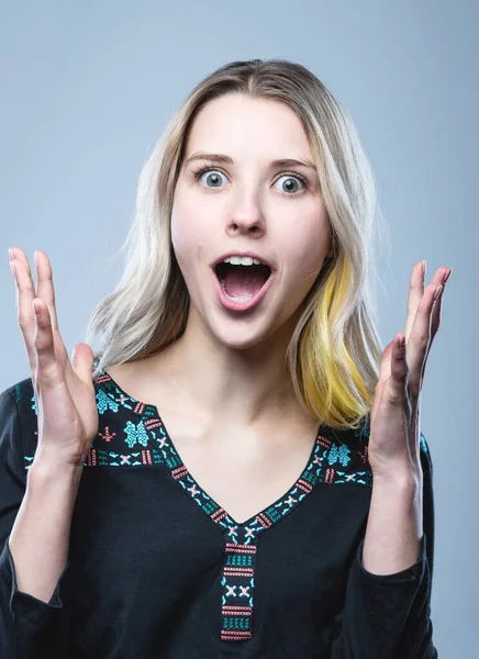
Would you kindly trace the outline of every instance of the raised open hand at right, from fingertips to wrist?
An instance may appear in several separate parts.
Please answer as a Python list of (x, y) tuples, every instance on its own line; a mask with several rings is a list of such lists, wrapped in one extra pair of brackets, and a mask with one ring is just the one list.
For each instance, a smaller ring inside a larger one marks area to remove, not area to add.
[[(404, 332), (385, 348), (370, 412), (368, 459), (374, 478), (421, 477), (420, 394), (427, 356), (439, 327), (443, 291), (452, 268), (436, 270), (424, 292), (425, 268), (412, 271)], [(401, 339), (405, 339), (401, 347)]]

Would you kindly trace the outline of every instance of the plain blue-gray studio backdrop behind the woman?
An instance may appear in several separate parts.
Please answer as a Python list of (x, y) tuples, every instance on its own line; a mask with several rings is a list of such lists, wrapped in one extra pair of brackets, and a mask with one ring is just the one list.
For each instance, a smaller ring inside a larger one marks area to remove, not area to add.
[(140, 169), (203, 76), (285, 57), (349, 111), (391, 230), (385, 343), (403, 330), (414, 263), (427, 260), (427, 281), (454, 269), (422, 396), (435, 468), (434, 638), (454, 659), (477, 656), (479, 640), (478, 27), (472, 0), (0, 3), (1, 389), (30, 376), (8, 247), (32, 265), (34, 249), (48, 254), (71, 350), (119, 278)]

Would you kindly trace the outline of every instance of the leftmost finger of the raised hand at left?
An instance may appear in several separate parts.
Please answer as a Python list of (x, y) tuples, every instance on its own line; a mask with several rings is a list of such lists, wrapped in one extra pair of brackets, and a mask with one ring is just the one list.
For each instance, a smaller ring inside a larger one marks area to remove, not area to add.
[(33, 373), (36, 368), (36, 353), (33, 345), (36, 327), (33, 310), (33, 300), (36, 294), (35, 287), (32, 281), (29, 261), (22, 249), (12, 247), (11, 253), (10, 268), (15, 280), (16, 317), (25, 342), (30, 370)]

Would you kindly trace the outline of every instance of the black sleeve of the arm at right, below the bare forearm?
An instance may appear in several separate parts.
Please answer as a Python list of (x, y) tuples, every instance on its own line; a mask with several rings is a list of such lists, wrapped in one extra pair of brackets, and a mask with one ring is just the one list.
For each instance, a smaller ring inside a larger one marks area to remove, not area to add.
[(431, 621), (434, 565), (433, 467), (421, 434), (423, 528), (417, 561), (394, 574), (372, 574), (361, 562), (364, 538), (335, 619), (332, 659), (436, 659)]

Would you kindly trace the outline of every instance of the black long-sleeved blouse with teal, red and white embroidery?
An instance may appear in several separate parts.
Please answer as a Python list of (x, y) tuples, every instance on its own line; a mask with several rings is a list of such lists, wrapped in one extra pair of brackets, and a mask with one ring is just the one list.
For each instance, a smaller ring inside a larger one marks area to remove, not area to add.
[(367, 425), (320, 426), (298, 480), (239, 524), (188, 472), (157, 407), (105, 371), (94, 386), (99, 432), (48, 603), (18, 590), (8, 544), (36, 448), (32, 381), (0, 394), (2, 659), (437, 657), (423, 435), (421, 552), (410, 568), (377, 576), (361, 563), (372, 487)]

